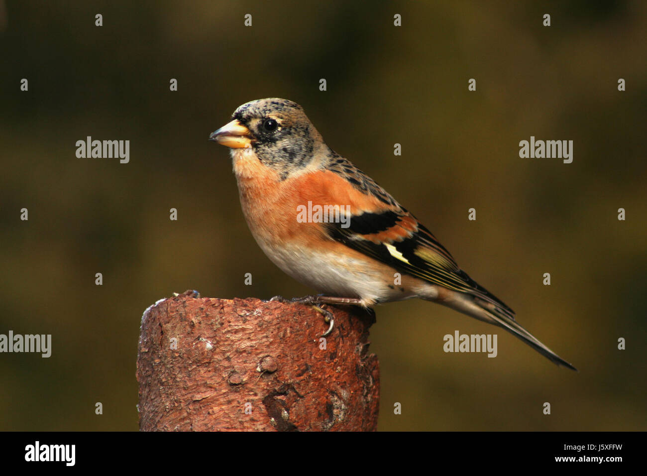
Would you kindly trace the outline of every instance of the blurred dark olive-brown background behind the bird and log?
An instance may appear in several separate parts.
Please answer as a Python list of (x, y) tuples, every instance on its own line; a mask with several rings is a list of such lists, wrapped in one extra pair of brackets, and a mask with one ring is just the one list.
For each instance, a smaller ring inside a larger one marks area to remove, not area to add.
[[(174, 291), (313, 291), (263, 255), (207, 141), (268, 96), (302, 104), (580, 369), (442, 306), (386, 304), (380, 430), (647, 429), (646, 32), (643, 1), (2, 2), (0, 333), (52, 334), (52, 356), (0, 354), (0, 430), (137, 430), (140, 317)], [(78, 159), (87, 135), (131, 141), (130, 163)], [(531, 135), (573, 140), (573, 163), (521, 159)], [(498, 357), (445, 354), (454, 330), (498, 334)]]

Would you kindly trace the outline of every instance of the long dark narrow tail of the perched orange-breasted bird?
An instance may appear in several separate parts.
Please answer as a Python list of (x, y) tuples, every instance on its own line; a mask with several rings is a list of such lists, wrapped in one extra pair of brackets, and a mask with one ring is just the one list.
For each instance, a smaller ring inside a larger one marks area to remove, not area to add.
[(507, 308), (507, 306), (503, 307), (505, 304), (501, 306), (499, 305), (499, 302), (485, 300), (480, 297), (455, 291), (452, 292), (450, 296), (444, 296), (444, 299), (442, 300), (435, 299), (435, 302), (443, 304), (444, 306), (449, 306), (450, 308), (471, 317), (475, 317), (476, 319), (479, 319), (479, 321), (485, 321), (502, 327), (557, 365), (563, 365), (571, 370), (577, 370), (573, 365), (562, 359), (562, 357), (558, 356), (551, 349), (538, 341), (534, 335), (521, 327), (521, 325), (514, 320), (514, 312), (512, 312), (510, 308)]

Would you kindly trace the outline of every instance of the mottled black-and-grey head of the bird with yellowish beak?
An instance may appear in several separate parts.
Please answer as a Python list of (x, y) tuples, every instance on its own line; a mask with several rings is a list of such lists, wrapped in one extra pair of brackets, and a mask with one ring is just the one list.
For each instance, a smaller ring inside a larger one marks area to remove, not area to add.
[(303, 112), (287, 99), (250, 101), (234, 111), (232, 121), (212, 133), (211, 141), (232, 148), (252, 149), (258, 160), (283, 176), (313, 160), (323, 140)]

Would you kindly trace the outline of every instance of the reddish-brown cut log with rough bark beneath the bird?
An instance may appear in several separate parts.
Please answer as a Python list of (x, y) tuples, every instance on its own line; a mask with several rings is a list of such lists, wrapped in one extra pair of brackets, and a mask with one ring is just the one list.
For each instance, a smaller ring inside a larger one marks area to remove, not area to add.
[(328, 324), (305, 304), (195, 291), (158, 301), (142, 316), (140, 429), (375, 430), (379, 370), (367, 353), (375, 317), (325, 308), (334, 328), (322, 341)]

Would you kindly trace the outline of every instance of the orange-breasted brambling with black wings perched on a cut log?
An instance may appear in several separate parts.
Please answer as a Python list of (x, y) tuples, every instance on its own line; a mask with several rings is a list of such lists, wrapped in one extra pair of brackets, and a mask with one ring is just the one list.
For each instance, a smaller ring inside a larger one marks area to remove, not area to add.
[(230, 148), (243, 214), (265, 254), (318, 303), (421, 298), (495, 324), (564, 367), (514, 312), (460, 269), (391, 195), (323, 142), (295, 102), (243, 104), (210, 135)]

